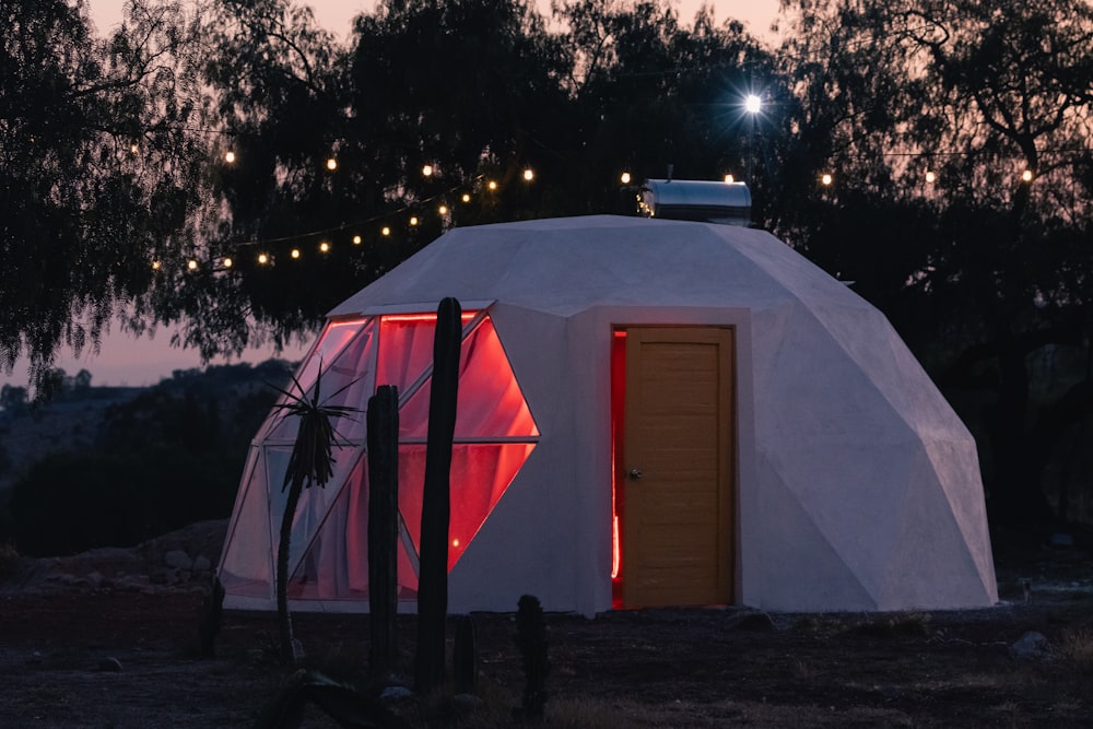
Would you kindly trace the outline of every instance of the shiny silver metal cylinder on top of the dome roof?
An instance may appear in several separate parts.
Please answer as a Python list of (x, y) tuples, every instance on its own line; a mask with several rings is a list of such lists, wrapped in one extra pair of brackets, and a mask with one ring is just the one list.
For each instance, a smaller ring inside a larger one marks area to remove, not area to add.
[(748, 225), (751, 191), (744, 183), (647, 179), (638, 192), (637, 211), (646, 217)]

